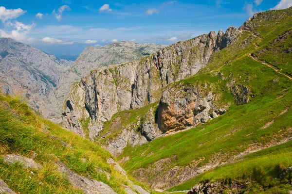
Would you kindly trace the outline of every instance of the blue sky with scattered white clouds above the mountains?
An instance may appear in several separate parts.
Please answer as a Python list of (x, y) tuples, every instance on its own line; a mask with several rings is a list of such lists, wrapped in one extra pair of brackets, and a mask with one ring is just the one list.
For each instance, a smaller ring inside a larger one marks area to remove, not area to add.
[(58, 56), (122, 40), (168, 45), (289, 6), (292, 0), (1, 0), (0, 37)]

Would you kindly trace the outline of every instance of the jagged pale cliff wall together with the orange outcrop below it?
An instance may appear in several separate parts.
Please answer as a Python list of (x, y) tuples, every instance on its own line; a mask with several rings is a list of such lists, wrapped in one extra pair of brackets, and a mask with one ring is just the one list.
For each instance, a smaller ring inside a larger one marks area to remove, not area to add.
[[(73, 89), (80, 91), (81, 98), (73, 97), (73, 90), (67, 97), (63, 107), (64, 126), (82, 135), (85, 129), (82, 128), (81, 122), (87, 119), (84, 112), (86, 110), (90, 116), (86, 130), (89, 130), (89, 138), (95, 140), (103, 131), (104, 122), (109, 121), (115, 113), (144, 107), (162, 97), (157, 112), (158, 121), (155, 120), (154, 113), (150, 113), (155, 110), (148, 110), (144, 120), (137, 124), (139, 131), (134, 130), (135, 127), (131, 125), (136, 123), (132, 123), (127, 129), (122, 129), (113, 140), (103, 141), (107, 142), (104, 146), (117, 156), (128, 144), (143, 144), (146, 143), (145, 140), (151, 141), (159, 137), (162, 132), (196, 126), (225, 113), (225, 105), (219, 107), (214, 103), (219, 97), (212, 91), (203, 96), (197, 88), (178, 87), (171, 91), (166, 86), (195, 75), (208, 64), (212, 53), (224, 49), (235, 41), (239, 34), (234, 27), (229, 27), (225, 33), (219, 31), (218, 35), (212, 31), (160, 49), (155, 54), (141, 58), (139, 62), (132, 61), (92, 70), (82, 78), (78, 89)], [(188, 94), (183, 92), (184, 89), (189, 90)], [(170, 93), (173, 99), (167, 99)], [(182, 93), (185, 93), (185, 96), (180, 97)], [(177, 101), (170, 102), (174, 99)], [(181, 113), (170, 113), (175, 111), (171, 109), (182, 107), (184, 110), (181, 110)], [(170, 111), (169, 115), (165, 114), (167, 110)], [(178, 125), (175, 124), (177, 118), (181, 119), (183, 125), (175, 126)]]

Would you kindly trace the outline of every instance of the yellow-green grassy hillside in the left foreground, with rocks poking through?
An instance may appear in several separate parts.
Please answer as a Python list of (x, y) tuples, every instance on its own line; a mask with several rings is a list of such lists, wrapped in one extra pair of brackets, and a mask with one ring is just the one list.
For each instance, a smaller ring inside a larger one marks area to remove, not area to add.
[(43, 166), (26, 169), (19, 162), (8, 165), (0, 157), (0, 179), (17, 193), (82, 193), (58, 171), (58, 161), (79, 175), (108, 184), (116, 193), (126, 193), (123, 185), (128, 180), (107, 163), (111, 156), (106, 150), (36, 116), (17, 97), (0, 94), (0, 155), (7, 154), (34, 158)]

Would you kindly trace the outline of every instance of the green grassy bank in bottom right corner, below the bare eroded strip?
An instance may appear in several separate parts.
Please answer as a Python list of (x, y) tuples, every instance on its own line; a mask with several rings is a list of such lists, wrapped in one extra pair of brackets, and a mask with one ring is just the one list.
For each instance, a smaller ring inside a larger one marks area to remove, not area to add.
[(200, 182), (240, 180), (252, 182), (246, 190), (251, 193), (289, 194), (291, 174), (280, 178), (284, 168), (292, 165), (292, 141), (243, 157), (236, 163), (217, 167), (168, 191), (188, 190)]

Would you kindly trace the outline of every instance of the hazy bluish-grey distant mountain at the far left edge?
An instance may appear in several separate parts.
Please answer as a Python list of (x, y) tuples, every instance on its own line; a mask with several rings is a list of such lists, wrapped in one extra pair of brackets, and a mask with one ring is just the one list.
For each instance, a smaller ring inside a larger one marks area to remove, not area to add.
[(0, 38), (0, 87), (10, 95), (26, 97), (38, 112), (54, 114), (49, 99), (60, 76), (72, 61), (58, 59), (11, 38)]

